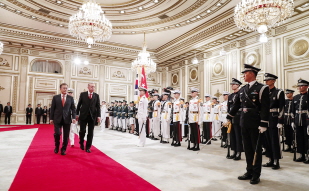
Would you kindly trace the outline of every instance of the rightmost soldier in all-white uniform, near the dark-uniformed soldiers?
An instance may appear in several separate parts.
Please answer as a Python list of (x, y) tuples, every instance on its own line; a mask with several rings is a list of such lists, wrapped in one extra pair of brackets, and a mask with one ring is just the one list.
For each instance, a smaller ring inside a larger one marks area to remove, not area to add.
[[(221, 128), (221, 122), (219, 120), (219, 107), (218, 98), (216, 96), (212, 97), (211, 103), (211, 120), (212, 120), (212, 140), (216, 141), (217, 138), (215, 136), (221, 137), (221, 132), (218, 132)], [(217, 134), (215, 134), (218, 132)], [(222, 146), (222, 144), (221, 144)]]

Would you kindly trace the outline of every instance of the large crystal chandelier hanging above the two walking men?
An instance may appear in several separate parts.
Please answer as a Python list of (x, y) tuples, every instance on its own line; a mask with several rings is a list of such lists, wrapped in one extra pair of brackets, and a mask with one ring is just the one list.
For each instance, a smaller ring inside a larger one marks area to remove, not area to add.
[(103, 42), (111, 37), (112, 24), (103, 14), (101, 7), (94, 0), (90, 0), (82, 5), (78, 13), (70, 17), (69, 31), (77, 39), (85, 40), (91, 48), (95, 41)]

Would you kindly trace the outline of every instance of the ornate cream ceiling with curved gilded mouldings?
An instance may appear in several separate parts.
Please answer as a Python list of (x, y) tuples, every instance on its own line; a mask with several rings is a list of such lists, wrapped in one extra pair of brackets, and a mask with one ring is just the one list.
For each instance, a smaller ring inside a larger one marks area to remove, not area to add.
[[(0, 0), (0, 40), (130, 60), (140, 50), (145, 32), (157, 62), (170, 64), (216, 46), (218, 42), (214, 40), (247, 34), (240, 32), (233, 22), (233, 8), (239, 0), (96, 0), (113, 24), (113, 35), (108, 42), (89, 50), (84, 42), (71, 37), (67, 29), (69, 17), (83, 2)], [(305, 2), (298, 0), (296, 4)], [(16, 31), (23, 35), (18, 38)], [(227, 31), (228, 35), (220, 35)]]

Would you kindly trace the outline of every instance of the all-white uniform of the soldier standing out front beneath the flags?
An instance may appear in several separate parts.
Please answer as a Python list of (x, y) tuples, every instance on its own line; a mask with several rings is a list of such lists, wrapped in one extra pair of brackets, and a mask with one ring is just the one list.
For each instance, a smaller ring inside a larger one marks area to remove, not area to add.
[(142, 96), (137, 104), (137, 118), (139, 126), (139, 143), (137, 146), (144, 147), (146, 142), (146, 121), (148, 112), (148, 99)]

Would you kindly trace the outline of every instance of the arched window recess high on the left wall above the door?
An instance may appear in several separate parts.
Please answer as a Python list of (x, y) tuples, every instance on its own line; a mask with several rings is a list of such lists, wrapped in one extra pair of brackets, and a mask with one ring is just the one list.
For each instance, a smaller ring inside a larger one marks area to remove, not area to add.
[(55, 60), (35, 60), (31, 66), (31, 72), (62, 74), (62, 67)]

